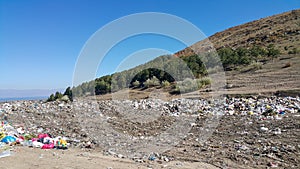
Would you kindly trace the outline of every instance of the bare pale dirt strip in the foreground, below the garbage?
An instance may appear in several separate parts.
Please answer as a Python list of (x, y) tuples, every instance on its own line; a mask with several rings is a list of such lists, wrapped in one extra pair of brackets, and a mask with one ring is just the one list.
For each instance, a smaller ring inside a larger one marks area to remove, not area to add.
[(216, 167), (202, 162), (148, 162), (138, 163), (129, 159), (104, 156), (100, 152), (87, 152), (80, 149), (42, 150), (38, 148), (15, 147), (12, 155), (0, 159), (1, 169), (148, 169), (148, 168), (181, 168), (181, 169), (215, 169)]

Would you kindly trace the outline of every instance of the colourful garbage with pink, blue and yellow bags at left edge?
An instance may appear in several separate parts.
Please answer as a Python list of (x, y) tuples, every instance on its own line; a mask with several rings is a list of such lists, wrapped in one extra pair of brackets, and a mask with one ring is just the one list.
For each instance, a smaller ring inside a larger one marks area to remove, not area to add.
[[(32, 102), (32, 106), (27, 103)], [(26, 105), (22, 107), (22, 105)], [(68, 149), (70, 143), (67, 137), (53, 137), (49, 133), (44, 133), (42, 128), (36, 128), (25, 124), (22, 112), (30, 113), (34, 109), (40, 109), (37, 101), (16, 101), (0, 104), (0, 157), (9, 156), (13, 146), (28, 146), (41, 149)], [(16, 118), (17, 117), (17, 118)], [(8, 122), (9, 121), (9, 122)], [(30, 122), (32, 123), (32, 122)], [(28, 127), (27, 127), (28, 126)], [(28, 130), (36, 128), (36, 130)]]

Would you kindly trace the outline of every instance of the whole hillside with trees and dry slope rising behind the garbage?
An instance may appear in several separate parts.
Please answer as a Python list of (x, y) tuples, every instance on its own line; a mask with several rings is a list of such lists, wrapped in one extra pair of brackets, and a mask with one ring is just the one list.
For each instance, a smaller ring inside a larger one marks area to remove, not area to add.
[[(192, 49), (200, 53), (200, 57)], [(207, 88), (211, 81), (205, 77), (210, 70), (200, 58), (215, 62), (218, 58), (214, 51), (218, 53), (226, 71), (226, 94), (274, 94), (300, 89), (300, 10), (229, 28), (173, 56), (157, 57), (135, 68), (83, 83), (72, 91), (75, 96), (104, 95), (129, 87), (138, 91), (133, 92), (139, 93), (138, 98), (144, 98), (151, 93), (151, 90), (145, 89), (162, 87), (160, 91), (168, 96), (196, 90), (204, 91), (204, 96), (209, 94), (205, 91), (209, 91)], [(182, 61), (186, 63), (186, 68), (182, 67)], [(187, 77), (199, 80), (185, 83)], [(192, 97), (190, 95), (194, 94), (187, 95)]]

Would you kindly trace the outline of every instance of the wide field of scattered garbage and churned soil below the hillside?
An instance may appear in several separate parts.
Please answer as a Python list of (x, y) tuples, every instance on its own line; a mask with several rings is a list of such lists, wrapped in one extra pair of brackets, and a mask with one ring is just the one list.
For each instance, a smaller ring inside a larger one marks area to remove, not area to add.
[[(3, 136), (13, 137), (7, 138), (12, 143), (16, 139), (15, 142), (19, 140), (20, 145), (59, 148), (60, 144), (65, 144), (59, 142), (62, 139), (69, 143), (67, 147), (115, 146), (104, 150), (104, 154), (129, 158), (117, 150), (127, 150), (126, 146), (156, 138), (176, 124), (176, 120), (191, 116), (195, 120), (189, 122), (187, 128), (190, 130), (185, 133), (186, 137), (169, 151), (140, 152), (142, 158), (132, 159), (154, 162), (197, 159), (220, 168), (234, 168), (230, 166), (231, 162), (253, 168), (299, 168), (299, 110), (299, 97), (253, 96), (220, 100), (175, 99), (169, 102), (159, 99), (98, 101), (80, 98), (73, 103), (0, 103), (0, 118), (14, 124), (3, 132)], [(201, 142), (203, 136), (200, 131), (207, 130), (205, 122), (216, 115), (222, 116), (217, 128), (211, 131), (212, 135), (205, 142)], [(3, 130), (7, 124), (2, 124)], [(122, 138), (111, 138), (107, 127), (112, 127), (116, 135), (130, 136), (133, 144), (123, 144)], [(154, 144), (160, 141), (168, 140), (162, 139)]]

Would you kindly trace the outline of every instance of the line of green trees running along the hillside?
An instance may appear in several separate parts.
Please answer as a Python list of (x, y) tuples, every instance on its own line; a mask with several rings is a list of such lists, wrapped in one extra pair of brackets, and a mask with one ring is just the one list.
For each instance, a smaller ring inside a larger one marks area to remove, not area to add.
[[(149, 88), (154, 86), (173, 86), (172, 93), (190, 92), (210, 84), (206, 78), (208, 71), (222, 65), (225, 70), (230, 67), (249, 65), (260, 59), (275, 58), (279, 55), (274, 45), (264, 48), (224, 47), (217, 52), (201, 55), (180, 56), (164, 55), (135, 68), (96, 78), (77, 87), (67, 88), (63, 95), (73, 96), (102, 95), (124, 88)], [(193, 80), (195, 79), (195, 80)], [(198, 79), (198, 80), (197, 80)], [(59, 99), (60, 93), (51, 95), (49, 101)]]

